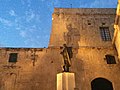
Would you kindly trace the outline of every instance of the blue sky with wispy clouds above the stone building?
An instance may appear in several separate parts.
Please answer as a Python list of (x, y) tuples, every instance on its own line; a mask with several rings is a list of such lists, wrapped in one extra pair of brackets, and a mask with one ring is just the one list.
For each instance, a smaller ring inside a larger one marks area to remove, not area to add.
[(0, 0), (0, 47), (48, 47), (54, 8), (116, 8), (117, 0)]

